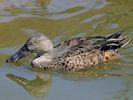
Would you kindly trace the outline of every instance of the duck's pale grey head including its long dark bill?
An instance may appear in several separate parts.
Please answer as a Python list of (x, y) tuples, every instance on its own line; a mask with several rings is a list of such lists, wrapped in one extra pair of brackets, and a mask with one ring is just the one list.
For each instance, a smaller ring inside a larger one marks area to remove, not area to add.
[(31, 53), (42, 54), (53, 51), (53, 43), (44, 35), (33, 36), (6, 62), (17, 62), (19, 59), (28, 56)]

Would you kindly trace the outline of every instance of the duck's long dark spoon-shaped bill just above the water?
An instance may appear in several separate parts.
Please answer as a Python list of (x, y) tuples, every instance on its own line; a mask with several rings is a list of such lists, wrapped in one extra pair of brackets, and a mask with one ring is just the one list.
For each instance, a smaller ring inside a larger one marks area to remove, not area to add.
[(8, 63), (17, 62), (19, 59), (28, 56), (31, 54), (31, 51), (28, 50), (27, 45), (25, 44), (23, 47), (20, 48), (18, 52), (12, 55), (10, 58), (6, 60)]

